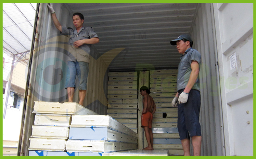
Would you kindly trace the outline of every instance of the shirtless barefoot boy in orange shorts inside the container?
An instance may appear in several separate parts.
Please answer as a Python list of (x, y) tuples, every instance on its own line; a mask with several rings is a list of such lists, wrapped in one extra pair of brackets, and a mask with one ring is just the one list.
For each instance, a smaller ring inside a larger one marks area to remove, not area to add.
[(140, 88), (140, 94), (143, 96), (143, 111), (141, 115), (141, 127), (144, 129), (148, 147), (143, 150), (153, 150), (153, 132), (152, 132), (152, 120), (153, 114), (156, 111), (155, 102), (150, 96), (150, 90), (146, 86)]

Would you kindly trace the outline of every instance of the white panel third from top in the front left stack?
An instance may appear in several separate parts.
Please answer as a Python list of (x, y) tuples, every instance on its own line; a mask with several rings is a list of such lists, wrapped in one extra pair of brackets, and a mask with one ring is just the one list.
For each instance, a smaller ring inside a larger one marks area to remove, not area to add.
[(68, 139), (69, 127), (32, 125), (32, 135), (34, 138), (59, 138)]

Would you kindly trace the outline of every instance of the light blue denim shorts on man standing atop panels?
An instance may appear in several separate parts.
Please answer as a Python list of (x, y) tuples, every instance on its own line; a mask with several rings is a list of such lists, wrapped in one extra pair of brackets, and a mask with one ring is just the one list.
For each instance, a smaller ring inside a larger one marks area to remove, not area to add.
[(78, 77), (79, 87), (78, 90), (87, 90), (87, 77), (89, 73), (89, 63), (67, 61), (68, 70), (66, 77), (65, 88), (76, 88), (76, 75)]

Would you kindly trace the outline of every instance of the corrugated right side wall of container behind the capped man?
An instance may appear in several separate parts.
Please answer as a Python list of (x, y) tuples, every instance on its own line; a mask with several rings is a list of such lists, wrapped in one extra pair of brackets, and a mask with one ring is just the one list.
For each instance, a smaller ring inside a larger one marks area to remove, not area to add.
[(193, 48), (201, 53), (200, 89), (203, 156), (222, 156), (223, 129), (218, 89), (217, 59), (210, 4), (199, 4), (192, 26)]

